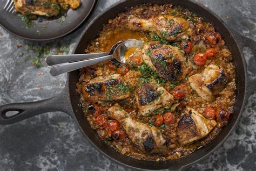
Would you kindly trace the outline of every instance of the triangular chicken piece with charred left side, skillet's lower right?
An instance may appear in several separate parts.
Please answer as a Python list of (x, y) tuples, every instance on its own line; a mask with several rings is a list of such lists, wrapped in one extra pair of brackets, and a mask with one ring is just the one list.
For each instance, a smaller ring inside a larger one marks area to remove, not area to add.
[(180, 144), (189, 144), (207, 136), (217, 125), (215, 120), (207, 119), (192, 108), (186, 108), (177, 126)]

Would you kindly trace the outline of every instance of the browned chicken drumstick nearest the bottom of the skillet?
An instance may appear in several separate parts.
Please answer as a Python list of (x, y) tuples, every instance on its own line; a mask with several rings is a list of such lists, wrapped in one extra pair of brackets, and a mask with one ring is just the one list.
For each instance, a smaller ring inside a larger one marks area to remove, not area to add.
[(156, 127), (132, 120), (118, 104), (109, 108), (107, 113), (111, 118), (118, 120), (129, 139), (140, 151), (163, 154), (167, 152), (166, 140)]

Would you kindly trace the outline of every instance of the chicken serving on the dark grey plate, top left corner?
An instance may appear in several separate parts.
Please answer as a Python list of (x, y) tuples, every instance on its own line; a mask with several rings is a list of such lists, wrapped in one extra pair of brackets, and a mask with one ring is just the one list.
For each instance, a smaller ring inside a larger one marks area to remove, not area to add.
[(15, 0), (15, 11), (23, 15), (58, 16), (61, 9), (77, 9), (80, 0)]

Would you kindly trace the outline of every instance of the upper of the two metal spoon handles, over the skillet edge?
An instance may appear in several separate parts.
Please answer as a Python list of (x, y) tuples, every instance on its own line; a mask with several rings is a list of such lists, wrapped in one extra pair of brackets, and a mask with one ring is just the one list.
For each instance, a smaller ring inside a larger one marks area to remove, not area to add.
[(86, 59), (97, 58), (101, 56), (106, 56), (108, 54), (109, 54), (108, 52), (104, 52), (104, 53), (88, 53), (88, 54), (50, 55), (45, 59), (45, 61), (47, 65), (53, 66), (53, 65), (58, 65), (60, 63), (76, 62), (76, 61), (82, 61)]

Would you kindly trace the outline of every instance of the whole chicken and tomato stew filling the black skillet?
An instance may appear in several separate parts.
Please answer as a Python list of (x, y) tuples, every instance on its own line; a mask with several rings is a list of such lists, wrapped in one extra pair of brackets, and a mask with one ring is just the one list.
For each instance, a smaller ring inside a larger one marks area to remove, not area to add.
[(214, 27), (172, 4), (138, 5), (110, 19), (85, 53), (109, 52), (139, 39), (126, 63), (81, 69), (77, 92), (84, 117), (119, 153), (176, 160), (211, 142), (232, 117), (233, 57)]

